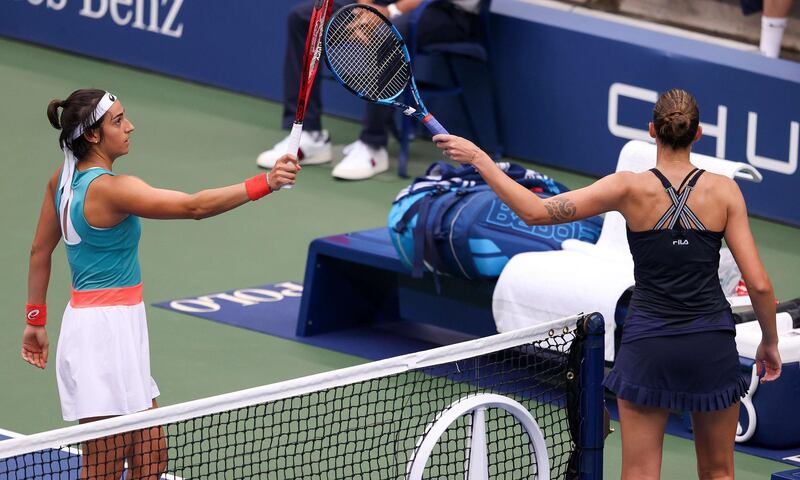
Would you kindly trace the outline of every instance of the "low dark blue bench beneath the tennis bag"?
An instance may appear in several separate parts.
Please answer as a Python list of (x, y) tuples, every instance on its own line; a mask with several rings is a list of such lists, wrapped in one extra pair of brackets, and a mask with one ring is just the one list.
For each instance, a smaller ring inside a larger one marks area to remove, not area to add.
[(308, 248), (297, 335), (365, 326), (436, 330), (478, 337), (497, 333), (494, 281), (431, 274), (412, 278), (389, 238), (376, 228), (318, 238)]

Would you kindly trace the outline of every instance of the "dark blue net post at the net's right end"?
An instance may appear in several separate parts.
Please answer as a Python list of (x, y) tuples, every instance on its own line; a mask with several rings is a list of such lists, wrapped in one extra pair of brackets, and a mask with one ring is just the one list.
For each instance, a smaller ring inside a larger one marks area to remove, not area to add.
[(591, 313), (580, 322), (586, 334), (581, 361), (580, 478), (603, 478), (604, 412), (603, 369), (605, 321), (599, 313)]

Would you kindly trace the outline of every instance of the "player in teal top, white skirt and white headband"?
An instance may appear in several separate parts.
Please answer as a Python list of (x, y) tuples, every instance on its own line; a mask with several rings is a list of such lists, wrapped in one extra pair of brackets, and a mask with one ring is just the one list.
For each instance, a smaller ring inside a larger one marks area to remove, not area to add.
[[(77, 90), (50, 102), (47, 117), (61, 130), (64, 162), (47, 184), (31, 247), (22, 358), (47, 365), (47, 287), (52, 253), (63, 238), (72, 272), (56, 355), (64, 419), (85, 423), (155, 408), (159, 390), (150, 376), (139, 217), (218, 215), (294, 184), (300, 167), (284, 156), (269, 173), (236, 185), (194, 194), (157, 189), (113, 173), (134, 131), (113, 94)], [(166, 449), (159, 428), (88, 441), (81, 478), (120, 478), (126, 461), (127, 478), (159, 478)]]

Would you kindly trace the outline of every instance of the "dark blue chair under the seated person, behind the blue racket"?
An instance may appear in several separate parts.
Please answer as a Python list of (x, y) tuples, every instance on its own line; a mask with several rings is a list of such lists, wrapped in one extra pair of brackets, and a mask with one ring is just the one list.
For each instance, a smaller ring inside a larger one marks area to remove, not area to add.
[[(479, 32), (474, 41), (435, 43), (417, 48), (417, 25), (425, 9), (437, 0), (423, 0), (409, 15), (409, 34), (406, 39), (408, 53), (411, 56), (412, 69), (417, 60), (424, 59), (426, 66), (435, 70), (436, 82), (417, 77), (417, 87), (426, 105), (431, 100), (443, 97), (455, 97), (464, 113), (471, 138), (484, 150), (499, 158), (502, 153), (501, 129), (495, 99), (494, 82), (490, 64), (489, 47), (489, 7), (491, 0), (483, 0), (480, 4)], [(417, 72), (415, 71), (415, 74)], [(440, 81), (441, 76), (449, 77)], [(427, 80), (427, 81), (426, 81)], [(406, 94), (406, 103), (413, 105), (413, 97)], [(398, 174), (408, 176), (408, 147), (421, 127), (416, 120), (401, 115), (400, 156)], [(447, 128), (445, 126), (445, 128)], [(427, 131), (427, 130), (426, 130)]]

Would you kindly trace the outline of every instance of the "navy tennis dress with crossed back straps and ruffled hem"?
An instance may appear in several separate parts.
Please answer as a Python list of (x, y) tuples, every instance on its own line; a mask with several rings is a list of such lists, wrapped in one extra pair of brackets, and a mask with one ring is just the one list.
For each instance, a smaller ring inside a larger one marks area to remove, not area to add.
[(703, 170), (689, 172), (677, 192), (661, 172), (651, 171), (673, 204), (652, 230), (627, 232), (636, 287), (603, 384), (638, 405), (722, 410), (748, 388), (719, 283), (723, 232), (707, 230), (686, 205)]

